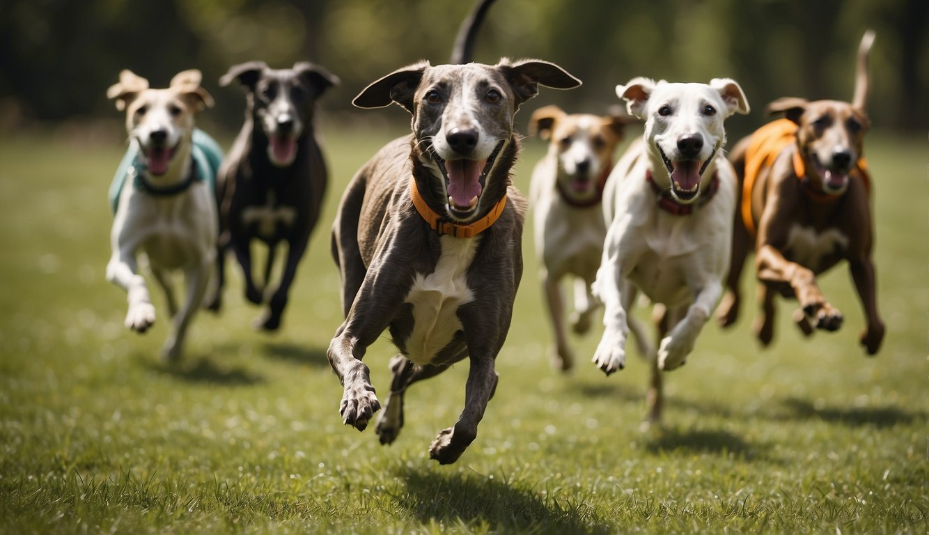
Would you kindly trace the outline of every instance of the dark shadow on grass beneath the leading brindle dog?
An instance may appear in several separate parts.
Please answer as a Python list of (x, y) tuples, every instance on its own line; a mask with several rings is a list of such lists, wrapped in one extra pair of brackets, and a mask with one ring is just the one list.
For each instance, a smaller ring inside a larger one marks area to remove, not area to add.
[(498, 479), (459, 472), (402, 468), (408, 492), (396, 496), (425, 525), (464, 523), (491, 533), (610, 533), (612, 529), (583, 502), (543, 499), (531, 489), (517, 489)]

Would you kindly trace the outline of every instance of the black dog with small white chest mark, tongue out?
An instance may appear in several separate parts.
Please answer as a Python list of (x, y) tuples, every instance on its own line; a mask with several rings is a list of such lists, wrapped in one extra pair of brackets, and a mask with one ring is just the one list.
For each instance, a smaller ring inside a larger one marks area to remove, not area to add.
[[(255, 321), (255, 327), (273, 331), (281, 325), (287, 294), (320, 216), (326, 189), (326, 165), (313, 132), (316, 99), (339, 80), (312, 63), (274, 70), (262, 61), (231, 67), (219, 85), (233, 80), (242, 84), (248, 96), (242, 131), (216, 181), (220, 219), (217, 286), (208, 307), (220, 307), (224, 253), (229, 247), (242, 266), (245, 298), (258, 305), (265, 299), (275, 249), (286, 241), (281, 281), (269, 293), (268, 311)], [(252, 275), (252, 240), (268, 244), (262, 286)]]

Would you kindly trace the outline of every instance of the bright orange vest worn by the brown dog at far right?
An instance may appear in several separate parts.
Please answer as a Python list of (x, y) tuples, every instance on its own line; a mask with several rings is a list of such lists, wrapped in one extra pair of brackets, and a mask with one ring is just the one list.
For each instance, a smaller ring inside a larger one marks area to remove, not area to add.
[[(782, 150), (796, 144), (796, 132), (797, 124), (790, 119), (772, 121), (754, 131), (749, 147), (745, 150), (745, 179), (742, 181), (741, 215), (742, 223), (752, 237), (757, 232), (754, 217), (752, 217), (752, 190), (754, 189), (755, 180), (762, 168), (774, 164)], [(855, 173), (856, 171), (864, 180), (865, 189), (870, 190), (868, 163), (864, 158), (858, 159), (856, 168), (852, 172)], [(830, 195), (806, 187), (808, 183), (806, 166), (800, 150), (794, 150), (793, 152), (793, 175), (805, 186), (804, 191), (806, 194), (816, 202), (834, 201), (840, 196)]]

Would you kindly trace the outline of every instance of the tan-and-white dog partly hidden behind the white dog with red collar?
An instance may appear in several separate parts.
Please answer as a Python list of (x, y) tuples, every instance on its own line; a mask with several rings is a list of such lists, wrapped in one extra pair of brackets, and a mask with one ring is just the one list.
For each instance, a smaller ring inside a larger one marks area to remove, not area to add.
[(603, 189), (623, 128), (632, 122), (635, 118), (569, 114), (557, 106), (540, 108), (530, 118), (531, 132), (549, 142), (548, 153), (532, 171), (531, 199), (539, 277), (555, 332), (552, 365), (558, 370), (568, 371), (574, 364), (560, 282), (574, 276), (571, 326), (575, 333), (586, 333), (598, 305), (590, 285), (607, 237), (600, 207)]

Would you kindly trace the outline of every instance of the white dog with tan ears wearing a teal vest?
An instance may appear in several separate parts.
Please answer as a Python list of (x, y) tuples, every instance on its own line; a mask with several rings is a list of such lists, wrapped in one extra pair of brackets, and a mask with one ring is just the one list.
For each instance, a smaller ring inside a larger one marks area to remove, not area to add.
[[(123, 71), (107, 91), (116, 109), (126, 111), (129, 134), (129, 150), (110, 189), (115, 217), (107, 280), (128, 294), (126, 327), (144, 333), (155, 321), (155, 308), (136, 256), (148, 256), (174, 320), (163, 350), (169, 360), (181, 356), (216, 259), (213, 184), (222, 153), (194, 128), (195, 113), (213, 105), (200, 82), (200, 71), (190, 70), (178, 73), (167, 89), (150, 89), (148, 80)], [(187, 282), (180, 309), (169, 278), (174, 270), (182, 270)]]

